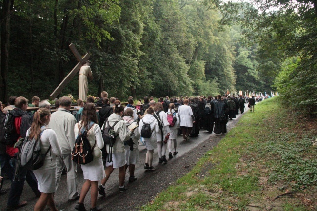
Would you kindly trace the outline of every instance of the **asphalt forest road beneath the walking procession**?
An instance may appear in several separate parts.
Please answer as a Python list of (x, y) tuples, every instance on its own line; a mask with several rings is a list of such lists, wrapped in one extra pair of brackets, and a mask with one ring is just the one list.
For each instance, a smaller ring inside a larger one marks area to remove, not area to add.
[[(248, 112), (247, 104), (245, 104), (246, 110), (244, 114)], [(243, 114), (242, 114), (243, 115)], [(227, 124), (227, 130), (235, 127), (236, 123), (242, 116), (237, 115), (234, 120), (229, 120)], [(214, 133), (210, 134), (208, 131), (200, 130), (199, 136), (191, 138), (190, 141), (183, 141), (182, 136), (177, 138), (177, 151), (178, 154), (173, 156), (172, 159), (168, 159), (168, 150), (166, 152), (166, 158), (168, 163), (158, 163), (158, 152), (154, 151), (153, 166), (156, 169), (153, 172), (147, 172), (143, 167), (145, 163), (146, 149), (144, 146), (139, 146), (139, 163), (136, 165), (135, 176), (138, 179), (132, 183), (128, 183), (129, 172), (126, 173), (125, 187), (128, 189), (125, 192), (119, 192), (119, 179), (118, 169), (115, 169), (111, 174), (109, 180), (106, 183), (106, 197), (98, 195), (97, 205), (102, 206), (104, 211), (136, 211), (139, 207), (150, 202), (159, 192), (165, 190), (169, 185), (174, 184), (177, 179), (188, 173), (198, 162), (198, 158), (203, 156), (208, 150), (211, 150), (218, 144), (221, 138), (224, 136), (218, 136)], [(172, 147), (173, 151), (173, 147)], [(83, 173), (78, 166), (78, 191), (84, 183)], [(99, 182), (100, 184), (100, 182)], [(6, 180), (3, 185), (3, 189), (10, 191), (11, 182)], [(2, 190), (3, 190), (2, 189)], [(75, 205), (77, 201), (68, 202), (67, 197), (67, 177), (61, 176), (59, 188), (55, 194), (54, 200), (58, 209), (65, 211), (75, 211)], [(6, 203), (8, 199), (8, 193), (0, 196), (0, 210), (6, 210)], [(20, 201), (27, 201), (28, 205), (17, 209), (17, 211), (33, 211), (34, 205), (37, 202), (30, 186), (25, 182), (24, 189)], [(90, 209), (90, 193), (85, 198), (86, 210)], [(45, 211), (49, 208), (46, 207)]]

